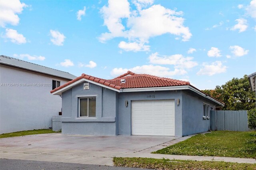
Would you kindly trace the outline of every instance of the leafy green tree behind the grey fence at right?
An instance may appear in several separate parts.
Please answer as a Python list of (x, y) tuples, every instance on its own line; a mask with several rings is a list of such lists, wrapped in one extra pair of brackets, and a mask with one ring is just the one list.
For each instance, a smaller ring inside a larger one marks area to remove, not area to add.
[(213, 90), (203, 90), (204, 93), (225, 103), (222, 110), (250, 110), (255, 108), (255, 92), (250, 89), (248, 76), (233, 78), (224, 85)]

